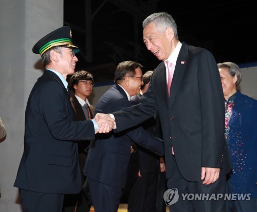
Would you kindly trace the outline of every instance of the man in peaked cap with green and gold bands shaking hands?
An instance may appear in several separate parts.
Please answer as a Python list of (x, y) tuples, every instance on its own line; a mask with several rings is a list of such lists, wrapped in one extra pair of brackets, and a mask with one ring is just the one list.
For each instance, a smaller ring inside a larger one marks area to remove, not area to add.
[(61, 27), (36, 43), (44, 74), (34, 84), (25, 114), (24, 152), (14, 186), (19, 188), (23, 211), (61, 212), (64, 194), (77, 194), (82, 180), (77, 140), (112, 129), (112, 119), (73, 121), (66, 77), (74, 74), (78, 58), (70, 27)]

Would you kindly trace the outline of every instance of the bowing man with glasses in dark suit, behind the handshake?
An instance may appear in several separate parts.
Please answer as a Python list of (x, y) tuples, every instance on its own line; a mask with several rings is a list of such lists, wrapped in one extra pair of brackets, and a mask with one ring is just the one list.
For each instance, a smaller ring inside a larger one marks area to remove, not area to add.
[[(113, 113), (132, 105), (130, 97), (139, 94), (142, 65), (134, 61), (120, 62), (115, 70), (116, 82), (99, 99), (95, 113)], [(163, 155), (162, 140), (136, 126), (118, 134), (98, 136), (90, 143), (84, 174), (88, 178), (96, 212), (117, 212), (126, 184), (132, 140), (157, 155)]]

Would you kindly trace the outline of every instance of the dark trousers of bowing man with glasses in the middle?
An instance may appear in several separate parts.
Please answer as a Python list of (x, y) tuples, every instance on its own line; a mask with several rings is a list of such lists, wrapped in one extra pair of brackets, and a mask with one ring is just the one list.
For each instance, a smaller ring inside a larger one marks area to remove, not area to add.
[(88, 178), (95, 212), (117, 212), (122, 196), (122, 188), (96, 182)]

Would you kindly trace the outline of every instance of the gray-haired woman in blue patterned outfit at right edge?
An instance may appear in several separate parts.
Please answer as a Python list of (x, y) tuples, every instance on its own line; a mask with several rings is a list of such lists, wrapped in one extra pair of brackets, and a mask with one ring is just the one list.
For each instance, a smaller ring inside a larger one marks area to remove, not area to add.
[(225, 137), (233, 171), (228, 175), (231, 194), (250, 194), (250, 200), (227, 200), (226, 212), (257, 209), (257, 100), (242, 94), (240, 68), (233, 62), (218, 63), (225, 98)]

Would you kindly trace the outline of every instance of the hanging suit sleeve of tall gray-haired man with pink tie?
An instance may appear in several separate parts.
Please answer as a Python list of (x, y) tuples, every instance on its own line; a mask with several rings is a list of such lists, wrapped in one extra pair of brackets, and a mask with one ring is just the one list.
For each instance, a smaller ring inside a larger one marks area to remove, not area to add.
[(198, 68), (203, 132), (202, 167), (221, 167), (225, 147), (225, 108), (221, 77), (213, 55), (201, 55)]

